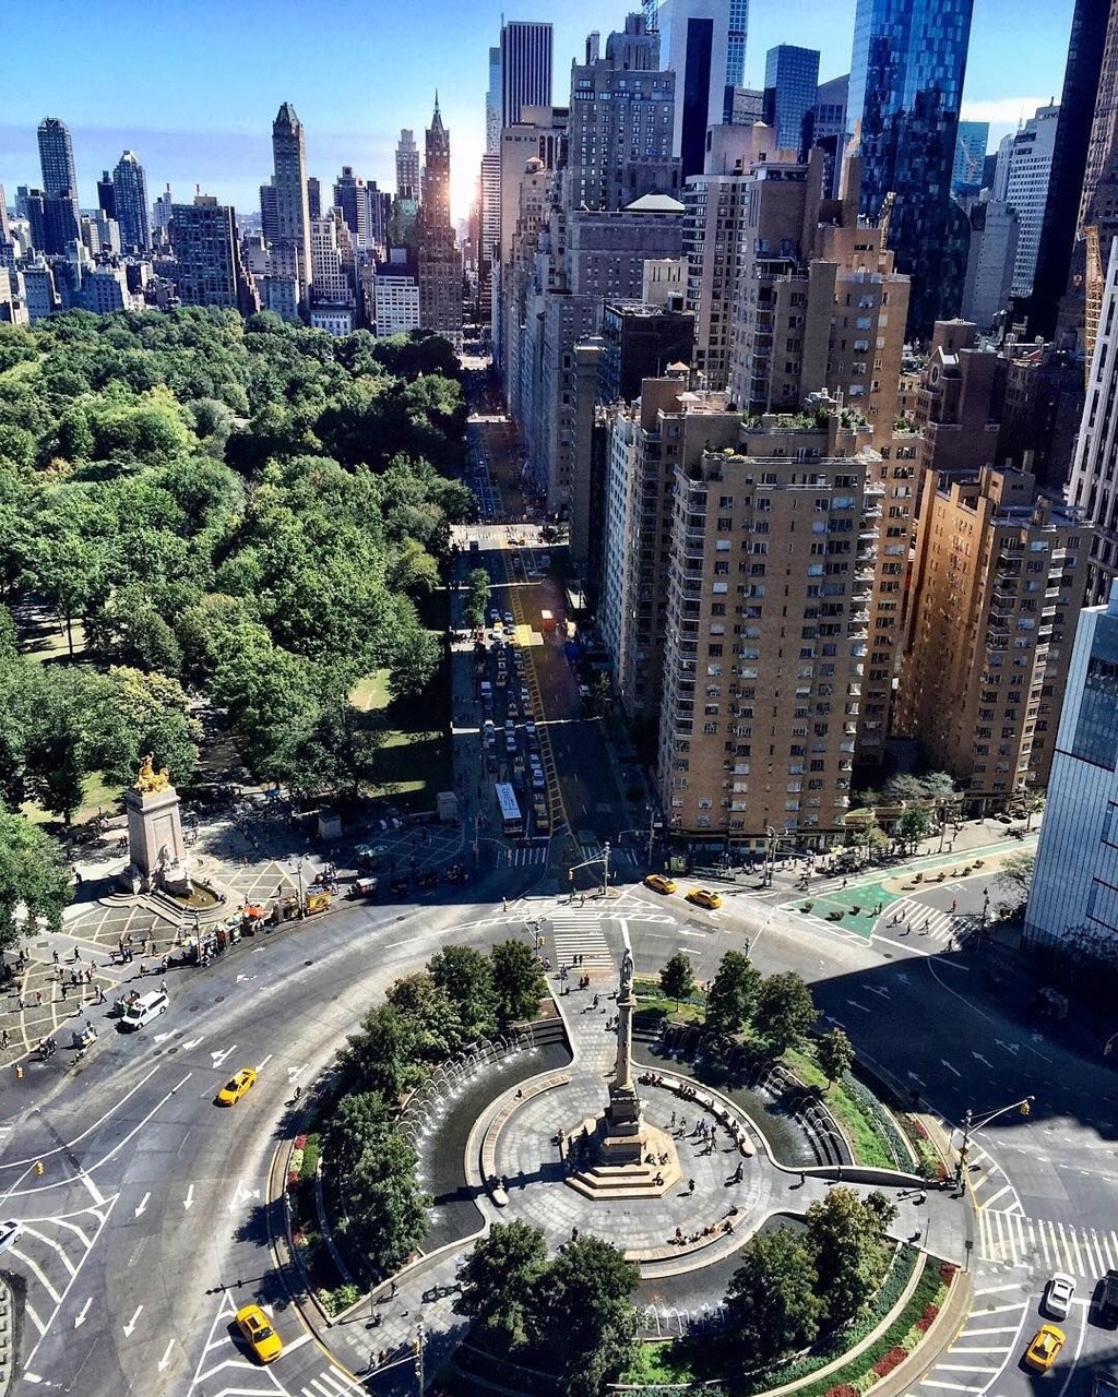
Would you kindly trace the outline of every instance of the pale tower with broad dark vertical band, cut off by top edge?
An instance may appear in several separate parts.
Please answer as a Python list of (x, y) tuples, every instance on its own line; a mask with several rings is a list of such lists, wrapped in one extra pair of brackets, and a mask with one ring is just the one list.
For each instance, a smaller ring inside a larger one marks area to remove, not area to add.
[(660, 63), (675, 74), (672, 154), (685, 179), (703, 169), (707, 127), (732, 119), (734, 88), (745, 81), (746, 15), (745, 0), (644, 0), (646, 25), (660, 34)]

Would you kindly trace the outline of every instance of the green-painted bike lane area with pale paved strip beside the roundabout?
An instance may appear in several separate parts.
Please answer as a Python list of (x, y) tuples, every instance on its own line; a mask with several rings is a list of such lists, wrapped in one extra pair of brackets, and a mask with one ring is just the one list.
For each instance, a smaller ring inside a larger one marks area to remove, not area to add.
[[(845, 887), (832, 886), (825, 891), (812, 891), (809, 887), (802, 897), (780, 905), (785, 912), (798, 912), (801, 916), (811, 916), (823, 926), (847, 933), (854, 932), (864, 940), (869, 940), (873, 928), (894, 902), (907, 897), (920, 897), (921, 893), (932, 888), (949, 887), (963, 877), (981, 877), (984, 873), (996, 877), (996, 866), (991, 868), (995, 859), (1001, 861), (1006, 854), (1036, 854), (1036, 848), (1037, 831), (1033, 831), (1023, 840), (1013, 840), (1009, 844), (1005, 841), (982, 844), (961, 854), (927, 854), (892, 872), (872, 870), (855, 875), (848, 879)], [(975, 868), (975, 861), (981, 861), (982, 866)], [(929, 873), (941, 872), (946, 875), (942, 880), (928, 877)], [(917, 873), (921, 875), (920, 882), (915, 882)]]

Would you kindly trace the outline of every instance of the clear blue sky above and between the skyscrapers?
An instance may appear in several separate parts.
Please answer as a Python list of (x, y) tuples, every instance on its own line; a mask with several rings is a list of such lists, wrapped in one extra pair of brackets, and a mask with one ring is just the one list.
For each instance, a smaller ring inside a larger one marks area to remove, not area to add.
[[(488, 50), (502, 14), (555, 25), (555, 99), (586, 35), (623, 27), (637, 6), (609, 0), (36, 0), (4, 18), (0, 183), (38, 184), (35, 127), (70, 127), (82, 205), (126, 147), (152, 197), (194, 184), (257, 205), (271, 169), (271, 120), (291, 101), (307, 131), (307, 168), (324, 184), (342, 163), (394, 180), (401, 126), (430, 120), (435, 89), (451, 136), (456, 215), (482, 149)], [(776, 43), (822, 50), (820, 78), (850, 68), (855, 0), (752, 0), (746, 81), (760, 85)], [(991, 142), (1059, 98), (1072, 0), (975, 0), (963, 115), (991, 120)]]

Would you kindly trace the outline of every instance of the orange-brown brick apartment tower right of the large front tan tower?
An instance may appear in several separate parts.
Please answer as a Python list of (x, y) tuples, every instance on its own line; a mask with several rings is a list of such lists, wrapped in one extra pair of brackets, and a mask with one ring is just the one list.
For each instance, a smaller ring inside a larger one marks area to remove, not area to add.
[(928, 471), (896, 728), (973, 813), (1048, 781), (1089, 529), (1027, 472)]

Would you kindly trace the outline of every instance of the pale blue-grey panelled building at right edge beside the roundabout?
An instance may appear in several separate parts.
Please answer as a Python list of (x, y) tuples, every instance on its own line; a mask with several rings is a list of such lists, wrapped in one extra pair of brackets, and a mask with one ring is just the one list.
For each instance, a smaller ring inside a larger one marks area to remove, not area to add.
[[(1026, 940), (1114, 964), (1118, 897), (1118, 591), (1079, 615), (1037, 845)], [(1048, 705), (1055, 714), (1052, 705)]]

